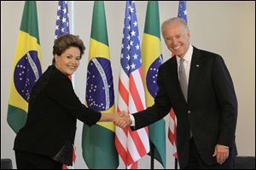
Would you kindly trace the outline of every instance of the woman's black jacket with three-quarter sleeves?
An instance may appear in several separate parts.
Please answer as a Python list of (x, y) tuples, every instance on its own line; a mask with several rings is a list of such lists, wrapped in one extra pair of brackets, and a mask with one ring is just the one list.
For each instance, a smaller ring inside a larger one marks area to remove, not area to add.
[(91, 126), (100, 117), (80, 102), (68, 77), (51, 65), (32, 88), (26, 125), (17, 133), (14, 150), (72, 165), (77, 119)]

